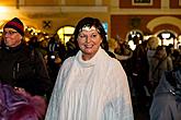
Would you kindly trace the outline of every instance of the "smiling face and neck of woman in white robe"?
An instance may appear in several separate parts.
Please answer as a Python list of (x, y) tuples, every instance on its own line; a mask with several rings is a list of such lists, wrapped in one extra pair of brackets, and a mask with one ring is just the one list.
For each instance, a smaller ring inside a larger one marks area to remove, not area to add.
[(91, 59), (97, 53), (102, 43), (102, 38), (94, 26), (89, 29), (82, 29), (77, 40), (80, 50), (83, 52), (83, 60)]

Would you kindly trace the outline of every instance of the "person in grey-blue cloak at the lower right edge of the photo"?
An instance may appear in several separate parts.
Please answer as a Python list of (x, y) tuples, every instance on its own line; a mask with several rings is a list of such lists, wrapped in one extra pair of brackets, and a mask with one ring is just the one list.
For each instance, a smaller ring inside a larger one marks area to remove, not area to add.
[(162, 74), (150, 107), (150, 120), (181, 120), (180, 64)]

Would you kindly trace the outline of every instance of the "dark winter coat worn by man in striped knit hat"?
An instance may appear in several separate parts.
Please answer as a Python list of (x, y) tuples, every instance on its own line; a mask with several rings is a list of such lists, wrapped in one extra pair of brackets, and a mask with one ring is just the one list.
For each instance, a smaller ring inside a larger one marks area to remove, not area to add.
[(45, 95), (50, 87), (41, 53), (25, 44), (0, 49), (0, 82), (22, 87), (32, 95)]

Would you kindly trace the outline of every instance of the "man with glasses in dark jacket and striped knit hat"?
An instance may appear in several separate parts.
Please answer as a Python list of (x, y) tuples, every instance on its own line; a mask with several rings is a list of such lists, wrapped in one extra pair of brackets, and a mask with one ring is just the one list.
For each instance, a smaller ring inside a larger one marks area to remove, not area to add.
[(0, 82), (45, 96), (50, 80), (42, 55), (32, 50), (23, 40), (24, 25), (14, 17), (3, 27), (4, 46), (0, 49)]

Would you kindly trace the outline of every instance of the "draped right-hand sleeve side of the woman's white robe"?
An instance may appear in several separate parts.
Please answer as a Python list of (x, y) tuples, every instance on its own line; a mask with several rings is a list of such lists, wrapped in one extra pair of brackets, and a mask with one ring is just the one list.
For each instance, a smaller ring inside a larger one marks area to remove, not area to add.
[(110, 83), (113, 98), (106, 106), (105, 120), (134, 120), (129, 86), (122, 65), (115, 64)]

